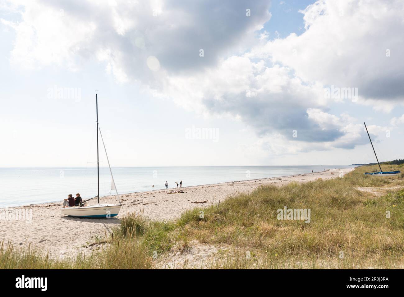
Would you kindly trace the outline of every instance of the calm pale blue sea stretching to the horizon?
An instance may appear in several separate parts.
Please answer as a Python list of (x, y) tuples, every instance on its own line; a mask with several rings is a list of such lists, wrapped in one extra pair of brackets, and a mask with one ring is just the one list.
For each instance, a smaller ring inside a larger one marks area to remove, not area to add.
[[(112, 168), (119, 194), (183, 186), (280, 177), (351, 166), (167, 166)], [(154, 185), (154, 188), (152, 187)], [(97, 168), (0, 168), (0, 207), (60, 201), (67, 194), (97, 195)], [(100, 168), (100, 196), (109, 194), (109, 169)], [(115, 194), (114, 191), (111, 192)]]

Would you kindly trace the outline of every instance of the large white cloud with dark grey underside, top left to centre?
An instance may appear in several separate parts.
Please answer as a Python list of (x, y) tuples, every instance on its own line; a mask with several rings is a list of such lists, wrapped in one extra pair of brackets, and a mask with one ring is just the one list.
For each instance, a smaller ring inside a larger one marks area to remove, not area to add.
[[(109, 55), (102, 61), (115, 68), (119, 81), (124, 72), (144, 83), (156, 79), (148, 57), (156, 57), (169, 72), (198, 71), (215, 65), (223, 54), (248, 49), (256, 42), (254, 32), (271, 17), (270, 3), (264, 0), (248, 4), (251, 17), (245, 15), (244, 2), (231, 0), (181, 5), (157, 0), (17, 3), (21, 21), (13, 24), (16, 64), (80, 65), (81, 59), (103, 51)], [(200, 49), (204, 57), (199, 57)]]

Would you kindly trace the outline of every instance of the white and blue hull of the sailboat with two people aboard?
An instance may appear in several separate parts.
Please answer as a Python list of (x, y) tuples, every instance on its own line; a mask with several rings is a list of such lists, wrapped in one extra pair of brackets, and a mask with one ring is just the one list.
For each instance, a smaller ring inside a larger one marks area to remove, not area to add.
[(86, 218), (110, 218), (118, 215), (120, 204), (95, 204), (82, 207), (65, 207), (61, 208), (62, 215), (69, 217), (86, 217)]

